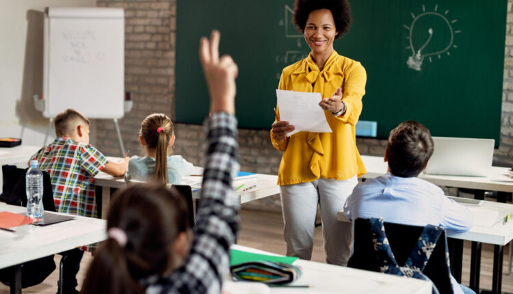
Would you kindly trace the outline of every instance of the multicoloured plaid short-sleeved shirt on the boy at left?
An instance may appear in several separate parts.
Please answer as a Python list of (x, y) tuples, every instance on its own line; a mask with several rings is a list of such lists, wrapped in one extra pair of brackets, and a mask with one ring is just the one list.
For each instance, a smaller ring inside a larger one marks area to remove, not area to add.
[(62, 136), (41, 148), (32, 160), (39, 162), (40, 170), (49, 172), (53, 201), (58, 212), (98, 216), (94, 200), (94, 176), (108, 162), (100, 151)]

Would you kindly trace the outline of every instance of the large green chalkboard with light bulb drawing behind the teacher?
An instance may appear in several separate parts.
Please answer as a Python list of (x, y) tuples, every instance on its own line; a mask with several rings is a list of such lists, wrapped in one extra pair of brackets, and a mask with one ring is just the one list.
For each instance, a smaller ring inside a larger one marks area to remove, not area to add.
[[(291, 23), (293, 1), (177, 2), (176, 121), (207, 116), (198, 44), (217, 28), (221, 53), (239, 64), (239, 126), (269, 129), (282, 68), (309, 52)], [(417, 120), (433, 135), (499, 143), (507, 0), (350, 3), (352, 26), (334, 47), (367, 70), (360, 120), (378, 122), (378, 137)]]

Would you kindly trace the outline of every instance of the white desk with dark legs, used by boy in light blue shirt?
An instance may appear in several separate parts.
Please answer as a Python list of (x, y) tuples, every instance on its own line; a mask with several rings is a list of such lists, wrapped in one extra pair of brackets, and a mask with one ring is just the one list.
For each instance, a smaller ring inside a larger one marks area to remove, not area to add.
[[(511, 213), (513, 214), (513, 204), (505, 204), (499, 202), (491, 202), (484, 201), (483, 206), (476, 207), (476, 209), (484, 209), (484, 210), (492, 210), (499, 211), (499, 213)], [(345, 217), (343, 211), (339, 211), (337, 213), (337, 219), (342, 222), (347, 222), (347, 218)], [(474, 291), (479, 289), (479, 276), (480, 276), (480, 266), (481, 266), (481, 243), (490, 243), (495, 245), (494, 251), (494, 269), (493, 269), (493, 282), (492, 282), (492, 293), (501, 293), (501, 278), (502, 278), (502, 248), (503, 245), (508, 244), (513, 239), (513, 222), (508, 222), (508, 224), (495, 224), (494, 226), (481, 226), (478, 223), (473, 224), (473, 227), (466, 232), (450, 232), (447, 231), (447, 237), (458, 239), (458, 240), (468, 240), (473, 241), (472, 244), (472, 253), (471, 253), (471, 288)], [(458, 257), (462, 254), (462, 244), (461, 248), (456, 248), (454, 254), (458, 255)], [(451, 258), (456, 258), (456, 256), (451, 256)], [(456, 270), (456, 275), (459, 273), (461, 278), (461, 262), (457, 260), (456, 264), (451, 261), (451, 270)], [(459, 267), (455, 269), (455, 267)], [(456, 278), (455, 275), (455, 278)], [(458, 278), (457, 278), (458, 279)]]

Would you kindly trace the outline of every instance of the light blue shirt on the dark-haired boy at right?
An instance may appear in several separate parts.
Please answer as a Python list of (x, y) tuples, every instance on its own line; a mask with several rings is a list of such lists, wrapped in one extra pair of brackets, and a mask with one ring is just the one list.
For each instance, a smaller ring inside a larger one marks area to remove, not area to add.
[[(402, 178), (390, 173), (357, 185), (345, 202), (344, 215), (350, 221), (383, 217), (385, 222), (432, 224), (454, 232), (464, 232), (473, 225), (471, 211), (447, 198), (440, 187), (417, 177)], [(451, 283), (454, 293), (462, 293), (452, 276)]]

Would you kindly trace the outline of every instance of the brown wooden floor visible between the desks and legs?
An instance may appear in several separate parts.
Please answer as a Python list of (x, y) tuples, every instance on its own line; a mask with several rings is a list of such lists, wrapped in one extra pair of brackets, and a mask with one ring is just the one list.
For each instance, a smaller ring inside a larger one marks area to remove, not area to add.
[[(283, 221), (280, 213), (267, 213), (262, 211), (241, 210), (241, 230), (239, 233), (238, 243), (240, 245), (266, 250), (277, 254), (285, 254), (285, 241), (282, 236)], [(492, 282), (492, 245), (484, 245), (482, 252), (481, 280), (482, 289), (491, 289)], [(513, 276), (508, 276), (508, 246), (504, 248), (504, 267), (503, 267), (503, 292), (513, 293)], [(463, 256), (463, 275), (462, 283), (469, 284), (469, 267), (470, 267), (470, 242), (465, 242)], [(82, 259), (81, 267), (77, 278), (79, 280), (78, 289), (86, 273), (87, 267), (91, 260), (91, 255), (86, 252)], [(322, 247), (321, 228), (315, 229), (315, 245), (312, 260), (324, 263), (324, 249)], [(58, 265), (60, 256), (55, 255), (55, 263)], [(23, 289), (23, 293), (51, 293), (57, 292), (58, 271), (55, 270), (44, 280), (42, 284)], [(9, 293), (7, 286), (0, 284), (0, 294)]]

